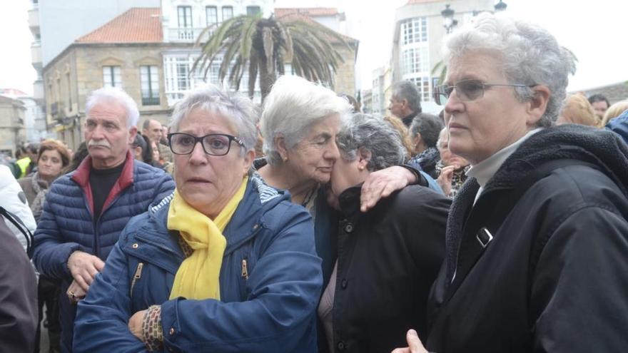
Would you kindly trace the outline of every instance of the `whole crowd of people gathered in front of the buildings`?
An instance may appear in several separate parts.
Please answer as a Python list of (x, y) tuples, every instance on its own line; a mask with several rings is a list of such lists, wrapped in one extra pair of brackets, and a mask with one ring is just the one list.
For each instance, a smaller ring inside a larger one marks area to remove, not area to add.
[(282, 76), (139, 132), (93, 91), (76, 153), (0, 165), (0, 352), (39, 352), (44, 305), (50, 352), (628, 349), (627, 103), (568, 96), (523, 21), (444, 49), (440, 116), (411, 82), (381, 117)]

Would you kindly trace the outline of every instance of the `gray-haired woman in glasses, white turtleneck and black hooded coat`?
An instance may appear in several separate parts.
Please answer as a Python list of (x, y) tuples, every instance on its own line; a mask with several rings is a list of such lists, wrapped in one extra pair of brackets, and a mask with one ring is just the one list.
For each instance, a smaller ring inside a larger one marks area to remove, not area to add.
[[(552, 126), (574, 58), (485, 14), (445, 41), (449, 148), (470, 161), (430, 297), (430, 352), (624, 352), (628, 148)], [(410, 348), (425, 352), (414, 332)]]

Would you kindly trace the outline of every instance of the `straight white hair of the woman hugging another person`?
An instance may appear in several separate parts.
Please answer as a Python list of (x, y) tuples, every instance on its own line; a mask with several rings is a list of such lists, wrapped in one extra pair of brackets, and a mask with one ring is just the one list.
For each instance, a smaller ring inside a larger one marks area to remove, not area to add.
[(329, 88), (298, 76), (281, 76), (265, 98), (260, 120), (263, 150), (270, 165), (282, 162), (275, 138), (283, 136), (286, 148), (293, 148), (315, 123), (332, 114), (340, 123), (350, 118), (352, 106)]

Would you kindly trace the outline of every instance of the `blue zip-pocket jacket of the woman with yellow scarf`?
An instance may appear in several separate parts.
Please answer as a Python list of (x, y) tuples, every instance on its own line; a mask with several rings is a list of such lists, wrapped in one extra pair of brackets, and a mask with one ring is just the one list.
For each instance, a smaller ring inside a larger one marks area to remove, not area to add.
[(163, 352), (317, 352), (323, 278), (310, 214), (254, 176), (223, 232), (221, 300), (169, 300), (185, 257), (166, 227), (170, 200), (123, 230), (78, 304), (74, 352), (146, 352), (127, 325), (151, 305), (161, 305)]

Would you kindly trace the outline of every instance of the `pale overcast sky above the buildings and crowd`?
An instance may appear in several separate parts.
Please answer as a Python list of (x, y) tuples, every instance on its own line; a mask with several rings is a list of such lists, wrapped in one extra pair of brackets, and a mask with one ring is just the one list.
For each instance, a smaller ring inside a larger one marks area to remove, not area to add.
[[(628, 35), (624, 23), (628, 1), (505, 2), (510, 16), (544, 26), (577, 56), (579, 62), (575, 76), (569, 80), (570, 91), (628, 81), (625, 59)], [(373, 69), (389, 60), (395, 9), (405, 3), (407, 0), (276, 0), (275, 7), (329, 6), (345, 11), (349, 35), (360, 40), (357, 75), (364, 89), (371, 86)], [(29, 0), (1, 1), (0, 88), (33, 91), (36, 73), (31, 66), (33, 38), (27, 13), (30, 6)]]

